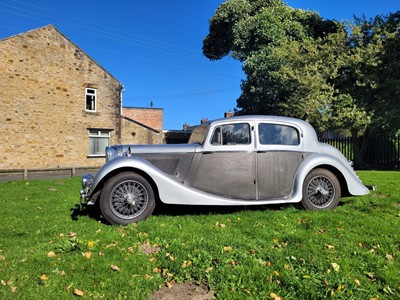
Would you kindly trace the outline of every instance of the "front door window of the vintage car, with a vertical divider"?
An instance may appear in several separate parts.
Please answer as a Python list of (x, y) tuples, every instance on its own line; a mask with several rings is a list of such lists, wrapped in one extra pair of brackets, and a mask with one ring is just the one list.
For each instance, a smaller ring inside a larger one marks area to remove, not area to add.
[(222, 125), (215, 128), (212, 145), (248, 145), (251, 143), (250, 125), (247, 123)]

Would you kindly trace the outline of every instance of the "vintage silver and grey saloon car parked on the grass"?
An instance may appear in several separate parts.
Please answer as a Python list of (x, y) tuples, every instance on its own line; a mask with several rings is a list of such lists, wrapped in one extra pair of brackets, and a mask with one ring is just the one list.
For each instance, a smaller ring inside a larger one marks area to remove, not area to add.
[(82, 178), (81, 204), (99, 201), (111, 224), (147, 218), (158, 201), (184, 205), (299, 203), (333, 209), (342, 195), (365, 195), (351, 164), (318, 142), (307, 122), (238, 116), (196, 127), (188, 144), (116, 145)]

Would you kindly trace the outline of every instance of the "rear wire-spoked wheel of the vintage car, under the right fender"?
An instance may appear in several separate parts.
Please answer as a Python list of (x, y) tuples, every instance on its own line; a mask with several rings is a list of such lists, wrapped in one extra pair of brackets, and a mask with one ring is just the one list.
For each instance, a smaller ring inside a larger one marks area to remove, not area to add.
[(340, 183), (332, 172), (314, 169), (304, 180), (301, 203), (308, 210), (334, 209), (340, 193)]

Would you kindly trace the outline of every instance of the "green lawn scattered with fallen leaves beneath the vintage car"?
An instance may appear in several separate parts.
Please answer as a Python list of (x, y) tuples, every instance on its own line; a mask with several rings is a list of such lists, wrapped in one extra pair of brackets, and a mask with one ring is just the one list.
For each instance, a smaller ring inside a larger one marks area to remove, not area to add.
[(185, 281), (218, 299), (399, 299), (400, 172), (359, 175), (378, 190), (334, 211), (173, 206), (125, 227), (76, 207), (79, 178), (0, 183), (0, 299), (147, 299)]

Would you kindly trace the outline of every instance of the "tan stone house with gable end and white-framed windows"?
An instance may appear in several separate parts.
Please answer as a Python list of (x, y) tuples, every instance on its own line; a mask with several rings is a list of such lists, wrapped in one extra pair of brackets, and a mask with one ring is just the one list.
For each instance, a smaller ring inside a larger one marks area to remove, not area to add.
[(122, 116), (122, 84), (53, 25), (0, 55), (0, 170), (99, 167), (107, 145), (163, 141), (162, 110), (157, 128)]

